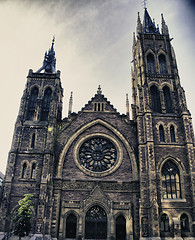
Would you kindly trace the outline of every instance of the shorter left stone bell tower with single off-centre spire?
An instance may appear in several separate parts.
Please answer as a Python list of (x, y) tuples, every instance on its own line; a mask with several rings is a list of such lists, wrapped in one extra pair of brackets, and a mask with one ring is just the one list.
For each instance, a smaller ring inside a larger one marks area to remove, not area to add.
[(55, 165), (53, 135), (61, 120), (63, 97), (60, 71), (56, 72), (55, 65), (53, 39), (43, 66), (36, 72), (29, 70), (21, 98), (6, 169), (1, 231), (9, 231), (11, 219), (6, 216), (12, 216), (13, 207), (25, 193), (34, 195), (36, 219), (43, 219), (49, 204), (46, 199), (52, 188), (49, 180)]

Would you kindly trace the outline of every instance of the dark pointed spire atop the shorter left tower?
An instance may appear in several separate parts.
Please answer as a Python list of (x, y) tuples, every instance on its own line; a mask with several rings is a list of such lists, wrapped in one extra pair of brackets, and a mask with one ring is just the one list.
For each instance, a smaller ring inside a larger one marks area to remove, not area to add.
[(55, 73), (56, 72), (56, 58), (55, 58), (55, 51), (54, 51), (54, 42), (55, 36), (52, 40), (51, 48), (49, 49), (48, 53), (45, 52), (43, 66), (36, 71), (36, 73), (40, 73), (41, 71), (45, 70), (46, 73)]

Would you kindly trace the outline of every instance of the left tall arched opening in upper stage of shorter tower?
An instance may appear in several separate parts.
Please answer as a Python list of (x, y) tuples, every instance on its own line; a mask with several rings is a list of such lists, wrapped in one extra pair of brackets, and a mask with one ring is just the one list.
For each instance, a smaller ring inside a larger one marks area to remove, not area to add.
[(37, 104), (37, 97), (38, 97), (38, 88), (34, 87), (31, 90), (29, 102), (28, 102), (28, 112), (27, 112), (27, 120), (34, 120), (36, 104)]

